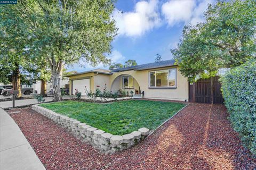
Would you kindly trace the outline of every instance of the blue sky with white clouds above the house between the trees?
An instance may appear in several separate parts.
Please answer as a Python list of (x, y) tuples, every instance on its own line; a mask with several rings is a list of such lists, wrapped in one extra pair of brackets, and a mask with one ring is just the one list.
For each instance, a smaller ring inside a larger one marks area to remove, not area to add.
[[(151, 63), (157, 53), (162, 60), (172, 59), (170, 49), (179, 43), (184, 25), (203, 22), (203, 12), (209, 3), (213, 0), (118, 0), (113, 18), (119, 30), (109, 58), (122, 64), (130, 59), (138, 64)], [(102, 64), (96, 68), (104, 69)], [(68, 70), (92, 69), (85, 63), (85, 67), (75, 65)]]

